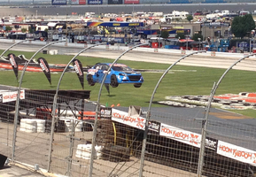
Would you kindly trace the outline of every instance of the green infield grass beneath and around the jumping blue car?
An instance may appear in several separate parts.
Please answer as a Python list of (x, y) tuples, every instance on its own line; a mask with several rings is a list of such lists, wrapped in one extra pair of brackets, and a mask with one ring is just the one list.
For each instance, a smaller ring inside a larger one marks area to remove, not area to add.
[[(19, 55), (20, 51), (8, 51), (7, 53), (14, 53)], [(22, 52), (26, 58), (31, 58), (33, 53)], [(46, 58), (48, 63), (66, 64), (74, 56), (62, 55), (46, 55), (39, 53), (36, 58)], [(112, 62), (112, 59), (105, 58), (86, 58), (77, 57), (81, 60), (83, 66), (94, 65), (97, 62)], [(134, 69), (158, 69), (166, 70), (169, 65), (146, 63), (140, 61), (124, 61), (119, 63), (129, 65)], [(225, 69), (206, 68), (196, 66), (175, 65), (166, 77), (159, 84), (157, 93), (153, 101), (163, 101), (165, 96), (183, 96), (183, 95), (210, 95), (213, 88), (213, 82), (219, 81)], [(12, 71), (0, 72), (0, 84), (18, 86), (18, 82)], [(121, 106), (140, 105), (147, 107), (151, 100), (151, 95), (162, 73), (143, 73), (144, 84), (141, 88), (136, 89), (131, 84), (120, 84), (118, 88), (110, 87), (110, 95), (108, 95), (105, 88), (103, 88), (100, 97), (101, 104), (120, 104)], [(20, 72), (19, 72), (20, 75)], [(56, 89), (60, 73), (51, 73), (52, 85), (50, 86), (43, 73), (26, 73), (22, 82), (23, 88), (29, 89)], [(231, 70), (221, 82), (215, 95), (220, 94), (238, 94), (239, 92), (255, 92), (256, 73), (249, 71)], [(99, 84), (90, 87), (85, 80), (84, 89), (91, 90), (90, 99), (97, 100)], [(61, 81), (60, 89), (81, 89), (80, 82), (76, 73), (65, 73)], [(152, 106), (163, 106), (160, 104), (152, 104)], [(254, 110), (234, 111), (244, 114), (249, 117), (255, 117)]]

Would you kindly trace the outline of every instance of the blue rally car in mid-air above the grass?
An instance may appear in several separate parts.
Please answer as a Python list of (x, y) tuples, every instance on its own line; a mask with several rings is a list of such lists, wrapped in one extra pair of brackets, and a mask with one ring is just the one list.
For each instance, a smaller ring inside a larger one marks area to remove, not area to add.
[[(94, 86), (95, 83), (101, 83), (111, 65), (111, 63), (97, 63), (92, 66), (86, 76), (88, 84)], [(140, 88), (143, 82), (144, 78), (141, 73), (135, 72), (128, 65), (123, 64), (112, 65), (105, 79), (105, 84), (110, 84), (112, 88), (118, 87), (121, 83), (132, 83), (134, 87)]]

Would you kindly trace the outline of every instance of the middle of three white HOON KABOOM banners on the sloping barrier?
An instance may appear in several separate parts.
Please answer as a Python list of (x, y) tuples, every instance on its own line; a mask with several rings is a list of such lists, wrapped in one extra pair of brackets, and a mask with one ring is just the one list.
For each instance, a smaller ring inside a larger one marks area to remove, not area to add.
[(178, 127), (161, 124), (159, 135), (200, 148), (201, 135)]

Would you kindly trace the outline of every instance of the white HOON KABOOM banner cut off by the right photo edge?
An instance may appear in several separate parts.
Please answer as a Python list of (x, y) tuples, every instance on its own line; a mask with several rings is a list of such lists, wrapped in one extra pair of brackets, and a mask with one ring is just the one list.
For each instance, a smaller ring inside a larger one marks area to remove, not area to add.
[(218, 142), (217, 154), (256, 166), (256, 151), (248, 150), (228, 142)]

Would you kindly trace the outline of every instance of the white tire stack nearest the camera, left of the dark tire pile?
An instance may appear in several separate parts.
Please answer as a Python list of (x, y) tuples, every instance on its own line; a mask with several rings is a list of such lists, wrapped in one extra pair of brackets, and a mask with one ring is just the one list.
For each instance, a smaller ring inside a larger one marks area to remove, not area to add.
[[(91, 156), (91, 144), (78, 144), (75, 153), (76, 158), (90, 159)], [(95, 146), (96, 156), (95, 158), (100, 158), (102, 156), (101, 150), (102, 146)]]

